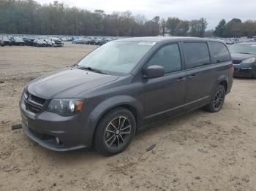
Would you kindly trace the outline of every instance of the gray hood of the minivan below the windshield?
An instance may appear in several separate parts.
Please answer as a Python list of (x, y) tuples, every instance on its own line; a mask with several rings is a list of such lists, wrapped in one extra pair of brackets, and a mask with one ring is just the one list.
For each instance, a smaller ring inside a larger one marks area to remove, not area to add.
[(94, 73), (77, 68), (56, 71), (34, 79), (27, 90), (40, 98), (75, 98), (80, 93), (118, 79), (116, 76)]

